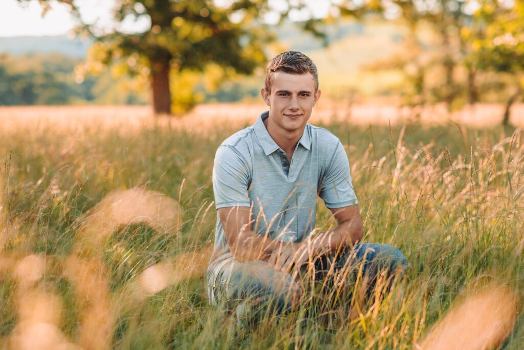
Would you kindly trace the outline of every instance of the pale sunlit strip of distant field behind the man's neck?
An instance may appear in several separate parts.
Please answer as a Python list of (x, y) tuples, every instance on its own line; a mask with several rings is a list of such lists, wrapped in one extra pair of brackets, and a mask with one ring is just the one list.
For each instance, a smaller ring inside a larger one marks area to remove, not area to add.
[[(145, 125), (171, 125), (189, 128), (201, 133), (215, 130), (216, 123), (226, 123), (232, 130), (254, 122), (267, 110), (265, 104), (209, 103), (201, 104), (188, 114), (178, 118), (153, 118), (149, 106), (41, 106), (2, 107), (0, 122), (2, 130), (24, 128), (82, 129), (84, 126), (125, 126), (141, 128)], [(311, 115), (310, 123), (344, 122), (351, 125), (402, 125), (420, 123), (426, 126), (451, 126), (456, 124), (473, 128), (493, 128), (500, 124), (504, 106), (501, 104), (478, 103), (449, 113), (444, 105), (433, 105), (424, 109), (399, 107), (397, 99), (374, 99), (367, 103), (349, 103), (347, 100), (333, 101), (321, 98)], [(524, 126), (524, 104), (515, 104), (511, 109), (510, 123)], [(454, 125), (454, 126), (453, 126)]]

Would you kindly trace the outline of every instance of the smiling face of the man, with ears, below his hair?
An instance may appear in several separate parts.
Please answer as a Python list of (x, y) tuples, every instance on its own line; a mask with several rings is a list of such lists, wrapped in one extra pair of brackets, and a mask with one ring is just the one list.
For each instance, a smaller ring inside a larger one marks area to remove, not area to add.
[(269, 119), (282, 133), (304, 130), (313, 105), (320, 98), (320, 90), (315, 92), (313, 75), (309, 72), (274, 72), (271, 93), (266, 89), (260, 93), (269, 105)]

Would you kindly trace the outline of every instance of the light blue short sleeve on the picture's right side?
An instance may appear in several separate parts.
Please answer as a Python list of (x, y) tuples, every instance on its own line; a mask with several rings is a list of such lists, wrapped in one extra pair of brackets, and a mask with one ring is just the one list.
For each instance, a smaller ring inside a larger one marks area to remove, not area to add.
[(358, 204), (350, 175), (350, 163), (344, 147), (339, 143), (331, 157), (328, 168), (325, 169), (319, 196), (324, 200), (326, 207), (342, 208)]

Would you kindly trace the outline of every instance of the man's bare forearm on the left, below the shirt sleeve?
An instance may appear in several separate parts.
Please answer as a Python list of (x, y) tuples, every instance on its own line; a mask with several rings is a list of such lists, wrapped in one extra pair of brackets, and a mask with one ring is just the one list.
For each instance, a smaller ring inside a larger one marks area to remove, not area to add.
[(285, 242), (260, 236), (251, 229), (249, 207), (224, 207), (218, 209), (227, 245), (238, 261), (268, 261), (276, 247)]

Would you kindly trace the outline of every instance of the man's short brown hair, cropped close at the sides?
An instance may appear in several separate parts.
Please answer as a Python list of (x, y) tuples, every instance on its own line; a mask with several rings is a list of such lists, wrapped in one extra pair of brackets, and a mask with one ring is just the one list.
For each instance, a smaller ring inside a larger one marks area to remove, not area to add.
[(315, 63), (299, 51), (286, 51), (271, 59), (266, 67), (265, 88), (271, 92), (273, 73), (282, 71), (289, 74), (311, 73), (315, 82), (315, 92), (319, 89), (319, 75)]

